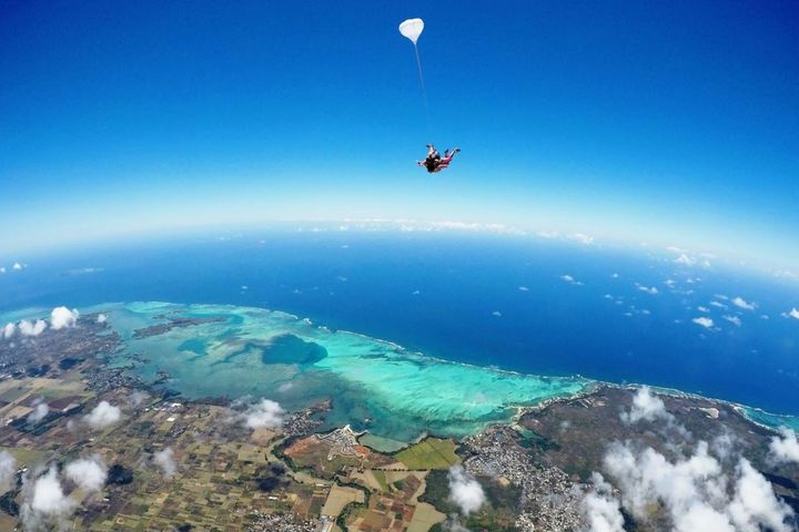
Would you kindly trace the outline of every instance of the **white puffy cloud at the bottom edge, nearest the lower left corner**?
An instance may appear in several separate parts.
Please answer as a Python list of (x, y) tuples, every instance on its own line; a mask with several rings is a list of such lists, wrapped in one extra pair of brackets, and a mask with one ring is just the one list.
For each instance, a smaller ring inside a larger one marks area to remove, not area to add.
[(75, 502), (64, 494), (54, 466), (38, 479), (28, 480), (23, 492), (20, 516), (24, 530), (60, 530), (75, 508)]

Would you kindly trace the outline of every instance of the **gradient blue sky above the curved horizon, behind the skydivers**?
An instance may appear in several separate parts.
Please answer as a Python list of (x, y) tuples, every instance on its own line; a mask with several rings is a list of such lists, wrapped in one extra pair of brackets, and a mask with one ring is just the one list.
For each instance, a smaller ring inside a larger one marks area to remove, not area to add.
[[(790, 267), (798, 27), (790, 1), (3, 2), (0, 254), (408, 217)], [(428, 140), (463, 149), (434, 177)]]

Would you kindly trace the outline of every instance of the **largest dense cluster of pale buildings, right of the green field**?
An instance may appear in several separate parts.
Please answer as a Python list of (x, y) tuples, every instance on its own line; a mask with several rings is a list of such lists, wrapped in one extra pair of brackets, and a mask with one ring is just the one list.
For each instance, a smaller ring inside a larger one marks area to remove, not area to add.
[(492, 477), (522, 489), (518, 530), (581, 530), (580, 490), (563, 470), (534, 463), (516, 444), (512, 429), (490, 427), (467, 438), (464, 444), (472, 453), (464, 462), (469, 473)]

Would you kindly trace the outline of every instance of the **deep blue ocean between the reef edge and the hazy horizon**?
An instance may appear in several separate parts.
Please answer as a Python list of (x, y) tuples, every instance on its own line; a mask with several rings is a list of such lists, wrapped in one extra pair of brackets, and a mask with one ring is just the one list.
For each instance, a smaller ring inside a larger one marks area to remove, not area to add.
[[(677, 256), (456, 232), (186, 236), (2, 257), (0, 313), (134, 300), (257, 306), (449, 360), (799, 415), (799, 319), (782, 316), (799, 307), (799, 285)], [(13, 260), (26, 268), (10, 270)]]

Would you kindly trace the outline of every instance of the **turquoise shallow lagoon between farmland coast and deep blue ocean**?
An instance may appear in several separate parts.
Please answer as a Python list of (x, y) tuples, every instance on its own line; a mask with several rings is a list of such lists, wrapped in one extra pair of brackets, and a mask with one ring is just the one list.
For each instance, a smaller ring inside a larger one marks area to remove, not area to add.
[[(307, 319), (261, 308), (133, 303), (92, 308), (109, 314), (124, 339), (112, 364), (144, 381), (163, 372), (186, 398), (244, 396), (287, 410), (332, 399), (328, 427), (366, 429), (392, 447), (424, 433), (464, 436), (508, 420), (518, 407), (590, 389), (579, 377), (537, 377), (451, 362)], [(170, 318), (216, 318), (140, 338)]]

